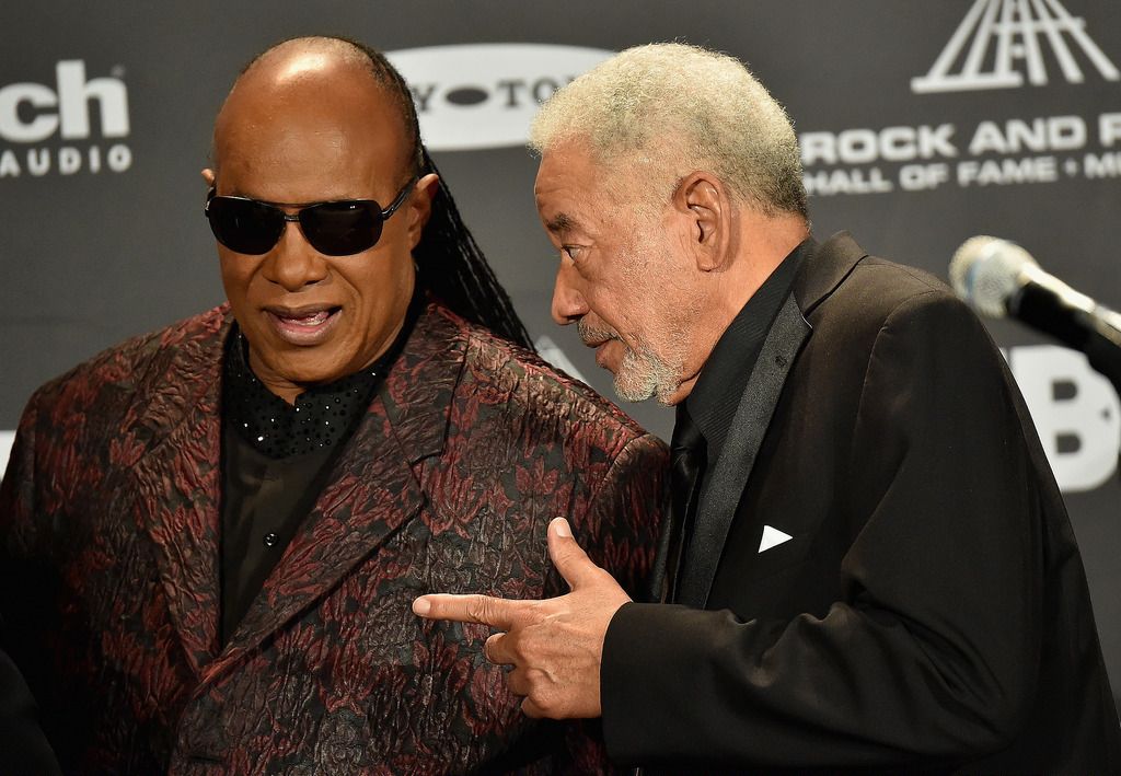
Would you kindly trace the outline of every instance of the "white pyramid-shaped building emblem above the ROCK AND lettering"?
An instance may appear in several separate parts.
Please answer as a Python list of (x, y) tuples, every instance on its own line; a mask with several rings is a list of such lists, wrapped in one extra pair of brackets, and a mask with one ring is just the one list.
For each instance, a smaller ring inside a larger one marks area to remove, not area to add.
[(1012, 89), (1023, 85), (1025, 71), (1028, 83), (1044, 86), (1047, 49), (1058, 62), (1063, 77), (1082, 83), (1085, 76), (1065, 36), (1103, 78), (1121, 80), (1121, 73), (1085, 27), (1085, 20), (1071, 16), (1058, 0), (976, 0), (930, 72), (911, 78), (911, 91), (925, 94)]

